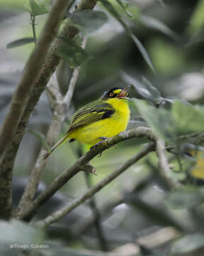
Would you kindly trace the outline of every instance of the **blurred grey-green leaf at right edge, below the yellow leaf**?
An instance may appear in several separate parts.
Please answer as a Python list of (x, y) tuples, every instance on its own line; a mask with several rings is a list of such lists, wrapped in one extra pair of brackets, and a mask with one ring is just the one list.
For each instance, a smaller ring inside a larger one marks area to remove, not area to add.
[(204, 189), (193, 186), (177, 188), (166, 197), (166, 203), (171, 208), (183, 209), (198, 206), (204, 201)]

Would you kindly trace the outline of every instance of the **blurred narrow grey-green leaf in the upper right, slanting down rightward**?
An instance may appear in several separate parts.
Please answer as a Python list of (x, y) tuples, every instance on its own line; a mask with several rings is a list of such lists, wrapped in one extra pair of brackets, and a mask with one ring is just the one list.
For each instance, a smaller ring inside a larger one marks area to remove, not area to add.
[(141, 15), (140, 21), (148, 28), (154, 28), (174, 40), (179, 40), (179, 36), (168, 26), (166, 26), (166, 24), (164, 24), (162, 21), (157, 20), (157, 18)]

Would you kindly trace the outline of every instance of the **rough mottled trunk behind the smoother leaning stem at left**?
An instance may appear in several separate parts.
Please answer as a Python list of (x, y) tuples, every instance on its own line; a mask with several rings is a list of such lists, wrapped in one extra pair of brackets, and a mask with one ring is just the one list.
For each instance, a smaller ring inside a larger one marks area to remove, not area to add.
[[(56, 3), (57, 2), (58, 1), (56, 1)], [(61, 2), (65, 3), (67, 1)], [(94, 9), (95, 5), (96, 0), (81, 0), (81, 2), (79, 2), (78, 10)], [(53, 20), (55, 20), (55, 18), (53, 18)], [(62, 30), (62, 33), (60, 33), (60, 36), (65, 38), (74, 38), (74, 36), (76, 36), (77, 33), (77, 28), (70, 27), (69, 22), (67, 22)], [(45, 86), (47, 85), (47, 82), (50, 80), (52, 73), (55, 72), (57, 65), (60, 63), (60, 58), (57, 57), (55, 53), (53, 53), (53, 51), (57, 50), (57, 48), (62, 46), (63, 43), (64, 41), (62, 41), (60, 38), (56, 38), (55, 44), (52, 47), (53, 50), (50, 51), (46, 63), (43, 65), (41, 73), (38, 76), (38, 79), (34, 82), (33, 90), (30, 92), (30, 98), (27, 102), (21, 120), (18, 123), (18, 129), (16, 130), (14, 137), (12, 136), (13, 138), (9, 139), (10, 143), (8, 144), (8, 149), (6, 150), (4, 157), (1, 156), (2, 161), (0, 161), (0, 183), (2, 184), (0, 186), (0, 211), (4, 210), (5, 216), (11, 215), (12, 171), (19, 144), (21, 143), (21, 139), (23, 138), (23, 134), (25, 133), (26, 125), (28, 124), (30, 114), (33, 112), (35, 105), (38, 103), (40, 95), (45, 90)], [(38, 44), (40, 44), (39, 41)], [(21, 91), (21, 93), (22, 92), (23, 90)], [(3, 144), (1, 144), (0, 146), (2, 147), (2, 145)]]

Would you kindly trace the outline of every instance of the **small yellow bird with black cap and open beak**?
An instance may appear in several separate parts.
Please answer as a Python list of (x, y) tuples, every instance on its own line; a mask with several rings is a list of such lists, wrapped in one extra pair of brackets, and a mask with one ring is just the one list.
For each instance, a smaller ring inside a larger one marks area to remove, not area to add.
[(64, 136), (45, 154), (50, 156), (58, 146), (69, 139), (96, 146), (105, 139), (125, 131), (130, 120), (128, 95), (130, 86), (113, 87), (98, 99), (81, 107), (72, 117)]

